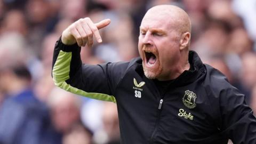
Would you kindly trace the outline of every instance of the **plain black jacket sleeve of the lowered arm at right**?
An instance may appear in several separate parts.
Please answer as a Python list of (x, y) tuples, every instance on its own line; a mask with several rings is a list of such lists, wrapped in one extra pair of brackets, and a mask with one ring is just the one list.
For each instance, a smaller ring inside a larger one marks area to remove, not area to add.
[(256, 143), (256, 118), (252, 109), (246, 105), (244, 94), (228, 82), (223, 82), (222, 86), (219, 106), (223, 135), (234, 144)]

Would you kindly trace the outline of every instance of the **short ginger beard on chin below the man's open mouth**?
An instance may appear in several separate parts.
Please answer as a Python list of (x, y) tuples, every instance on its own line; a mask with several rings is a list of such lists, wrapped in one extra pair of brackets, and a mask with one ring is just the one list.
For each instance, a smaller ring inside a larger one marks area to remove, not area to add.
[(163, 67), (160, 65), (158, 68), (147, 68), (144, 66), (144, 63), (142, 63), (142, 67), (143, 67), (143, 71), (144, 71), (144, 75), (148, 78), (148, 79), (156, 79), (160, 76), (160, 74), (163, 71)]

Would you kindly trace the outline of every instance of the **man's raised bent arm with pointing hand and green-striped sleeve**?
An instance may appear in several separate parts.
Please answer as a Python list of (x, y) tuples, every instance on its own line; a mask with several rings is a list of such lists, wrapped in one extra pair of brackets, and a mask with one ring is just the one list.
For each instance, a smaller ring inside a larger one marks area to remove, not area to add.
[(125, 65), (83, 65), (80, 56), (81, 46), (86, 43), (89, 47), (92, 46), (93, 35), (98, 42), (102, 42), (99, 29), (109, 23), (109, 19), (93, 23), (90, 18), (84, 18), (72, 23), (63, 31), (53, 54), (52, 77), (55, 85), (85, 97), (115, 102), (113, 95), (118, 75), (113, 77), (111, 71)]

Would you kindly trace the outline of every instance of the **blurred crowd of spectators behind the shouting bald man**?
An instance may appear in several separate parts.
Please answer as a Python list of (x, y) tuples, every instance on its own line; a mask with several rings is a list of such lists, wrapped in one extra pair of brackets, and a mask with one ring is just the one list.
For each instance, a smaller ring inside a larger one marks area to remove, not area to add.
[(256, 0), (0, 0), (0, 143), (120, 143), (115, 103), (54, 86), (53, 47), (79, 18), (109, 18), (100, 30), (103, 42), (83, 47), (82, 61), (138, 57), (140, 22), (158, 4), (188, 12), (190, 49), (225, 74), (256, 111)]

